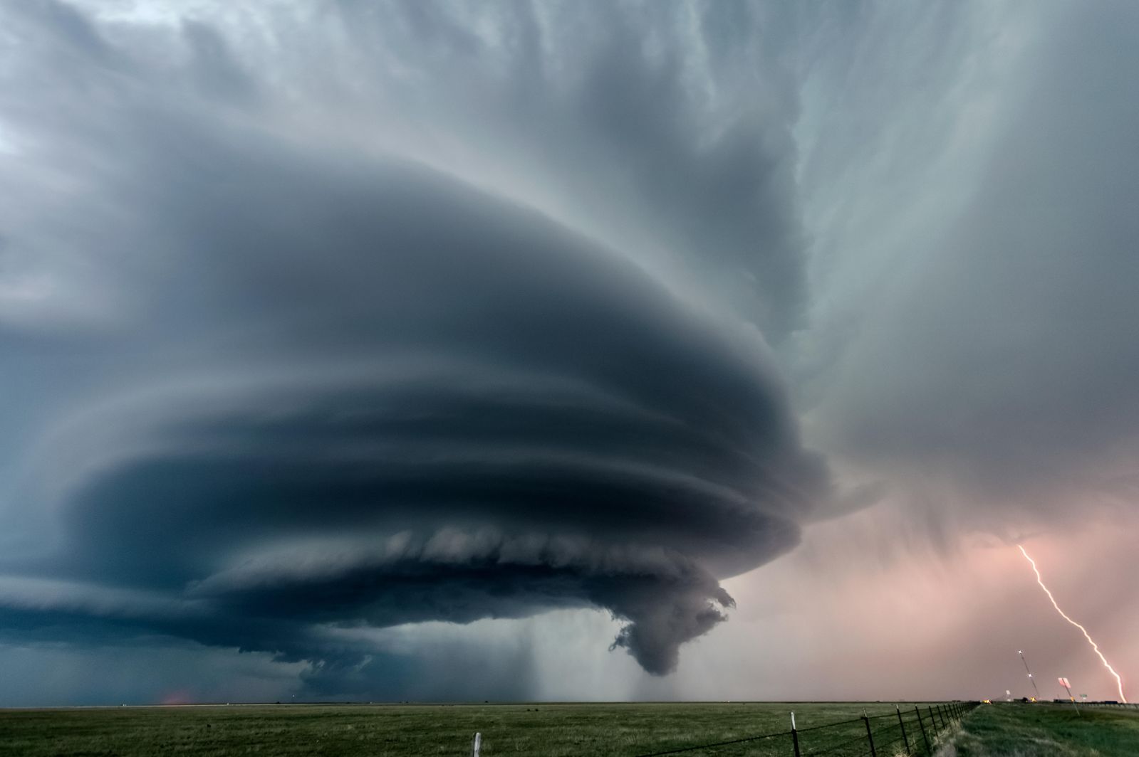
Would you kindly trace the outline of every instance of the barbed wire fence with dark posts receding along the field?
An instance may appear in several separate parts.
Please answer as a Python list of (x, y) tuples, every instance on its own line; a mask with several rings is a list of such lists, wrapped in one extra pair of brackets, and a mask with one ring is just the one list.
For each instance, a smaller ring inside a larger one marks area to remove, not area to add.
[(836, 723), (795, 727), (703, 744), (663, 749), (634, 757), (690, 755), (691, 757), (932, 757), (954, 733), (961, 718), (980, 702), (942, 702), (939, 705), (901, 705), (893, 713), (867, 715)]

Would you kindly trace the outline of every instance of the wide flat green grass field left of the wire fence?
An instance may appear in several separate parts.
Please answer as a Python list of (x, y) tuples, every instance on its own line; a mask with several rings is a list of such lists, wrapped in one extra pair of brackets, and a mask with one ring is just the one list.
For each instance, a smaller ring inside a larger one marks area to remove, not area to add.
[[(909, 705), (912, 711), (912, 705)], [(633, 757), (694, 744), (730, 741), (797, 726), (859, 718), (883, 703), (590, 703), (590, 705), (285, 705), (0, 710), (0, 755), (48, 757), (235, 757), (327, 755), (410, 757), (482, 755)], [(871, 721), (886, 733), (891, 718)], [(801, 734), (803, 755), (861, 738), (860, 719)], [(691, 757), (792, 756), (789, 737), (699, 749)], [(835, 751), (831, 754), (845, 754)], [(861, 754), (861, 751), (852, 752)], [(893, 755), (879, 744), (879, 757)]]

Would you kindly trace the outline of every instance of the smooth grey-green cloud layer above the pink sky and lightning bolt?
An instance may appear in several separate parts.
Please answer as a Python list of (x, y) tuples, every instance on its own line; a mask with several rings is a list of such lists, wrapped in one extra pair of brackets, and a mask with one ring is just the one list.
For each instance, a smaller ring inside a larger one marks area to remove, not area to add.
[[(943, 524), (1114, 518), (1139, 495), (1139, 16), (950, 7), (921, 87), (895, 66), (907, 19), (863, 19), (816, 122), (810, 438)], [(879, 107), (880, 134), (838, 134)]]

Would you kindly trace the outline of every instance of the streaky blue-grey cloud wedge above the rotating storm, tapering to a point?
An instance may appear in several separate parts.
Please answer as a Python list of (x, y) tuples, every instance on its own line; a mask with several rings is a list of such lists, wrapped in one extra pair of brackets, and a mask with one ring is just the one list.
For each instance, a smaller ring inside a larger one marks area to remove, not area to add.
[[(542, 192), (576, 222), (673, 258), (769, 339), (798, 322), (797, 104), (780, 59), (782, 11), (514, 3), (490, 14), (487, 40), (474, 31), (487, 19), (469, 6), (335, 7), (352, 42), (343, 65), (374, 68), (372, 51), (385, 50), (445, 93), (427, 108), (434, 98), (385, 76), (401, 107), (461, 120), (464, 141), (495, 145), (495, 168), (540, 171)], [(630, 229), (630, 215), (648, 223)]]

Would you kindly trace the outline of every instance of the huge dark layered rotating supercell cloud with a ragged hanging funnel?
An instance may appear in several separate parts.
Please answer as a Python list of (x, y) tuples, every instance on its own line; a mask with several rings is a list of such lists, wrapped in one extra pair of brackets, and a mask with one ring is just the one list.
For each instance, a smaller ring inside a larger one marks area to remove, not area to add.
[[(363, 35), (345, 57), (379, 67), (360, 73), (377, 87), (395, 63), (419, 79), (394, 105), (449, 93), (454, 72), (518, 98), (507, 112), (540, 116), (539, 137), (583, 113), (591, 138), (549, 170), (620, 156), (600, 197), (628, 191), (622, 213), (648, 230), (628, 239), (675, 255), (654, 266), (604, 224), (587, 236), (494, 176), (476, 188), (462, 159), (314, 135), (289, 85), (251, 76), (208, 25), (10, 9), (3, 161), (26, 186), (5, 223), (26, 303), (6, 349), (36, 410), (8, 443), (0, 625), (179, 636), (337, 677), (369, 653), (338, 626), (597, 607), (628, 622), (614, 645), (667, 673), (732, 606), (719, 579), (790, 549), (827, 496), (756, 328), (797, 307), (784, 158), (749, 134), (754, 114), (696, 146), (697, 124), (670, 116), (683, 61), (631, 46), (622, 14), (595, 30), (597, 63), (568, 61), (562, 101), (493, 77), (539, 55), (525, 6), (500, 19), (519, 35), (505, 54), (439, 7), (371, 8), (317, 22)], [(680, 16), (646, 18), (663, 33)], [(374, 52), (390, 28), (403, 36)], [(583, 180), (567, 175), (551, 197)], [(746, 318), (702, 299), (740, 277), (736, 294), (759, 294), (727, 298)]]

